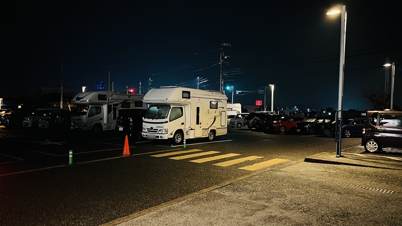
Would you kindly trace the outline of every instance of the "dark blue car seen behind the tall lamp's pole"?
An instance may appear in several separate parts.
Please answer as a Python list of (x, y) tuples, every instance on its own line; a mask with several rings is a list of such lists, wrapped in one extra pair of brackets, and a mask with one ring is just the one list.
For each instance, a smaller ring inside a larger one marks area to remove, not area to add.
[[(342, 137), (361, 136), (364, 128), (364, 118), (345, 119), (342, 121)], [(327, 137), (335, 137), (336, 121), (323, 126), (323, 134)]]

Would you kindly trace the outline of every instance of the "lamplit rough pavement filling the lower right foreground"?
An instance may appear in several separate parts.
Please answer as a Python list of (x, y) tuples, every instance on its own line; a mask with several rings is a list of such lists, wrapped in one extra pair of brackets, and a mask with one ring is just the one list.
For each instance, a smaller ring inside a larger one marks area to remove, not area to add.
[(399, 170), (398, 155), (323, 152), (103, 225), (402, 225)]

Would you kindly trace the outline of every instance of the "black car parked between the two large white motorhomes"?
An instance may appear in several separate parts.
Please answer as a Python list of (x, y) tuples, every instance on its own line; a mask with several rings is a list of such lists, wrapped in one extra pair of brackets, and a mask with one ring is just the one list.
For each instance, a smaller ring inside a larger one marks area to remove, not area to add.
[(116, 120), (116, 131), (122, 138), (128, 136), (135, 140), (142, 138), (142, 117), (146, 109), (120, 109)]

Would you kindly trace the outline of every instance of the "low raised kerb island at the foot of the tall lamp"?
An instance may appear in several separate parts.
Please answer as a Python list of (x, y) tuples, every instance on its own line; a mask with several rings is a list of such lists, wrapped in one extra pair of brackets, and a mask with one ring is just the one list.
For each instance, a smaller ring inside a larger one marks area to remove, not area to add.
[(336, 157), (336, 152), (322, 152), (305, 158), (305, 162), (402, 170), (402, 157), (378, 154), (341, 153), (341, 157)]

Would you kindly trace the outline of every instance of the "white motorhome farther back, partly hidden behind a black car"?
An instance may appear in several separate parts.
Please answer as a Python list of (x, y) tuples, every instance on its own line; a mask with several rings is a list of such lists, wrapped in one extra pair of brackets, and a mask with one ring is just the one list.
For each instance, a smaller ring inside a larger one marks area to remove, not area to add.
[(99, 133), (115, 130), (118, 110), (146, 109), (143, 94), (112, 91), (80, 92), (71, 100), (71, 129)]

